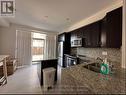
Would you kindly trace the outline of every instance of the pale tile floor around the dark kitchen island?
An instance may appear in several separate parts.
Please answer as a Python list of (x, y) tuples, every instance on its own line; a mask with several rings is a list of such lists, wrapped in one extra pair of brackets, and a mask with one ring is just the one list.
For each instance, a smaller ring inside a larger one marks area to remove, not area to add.
[[(61, 71), (61, 67), (58, 66), (58, 81), (56, 85), (53, 89), (45, 91), (39, 83), (37, 65), (20, 68), (8, 77), (6, 85), (0, 86), (0, 94), (67, 94), (70, 87), (66, 89), (66, 85), (61, 85)], [(64, 78), (65, 81), (67, 81), (68, 77)], [(67, 82), (68, 84), (69, 82)]]

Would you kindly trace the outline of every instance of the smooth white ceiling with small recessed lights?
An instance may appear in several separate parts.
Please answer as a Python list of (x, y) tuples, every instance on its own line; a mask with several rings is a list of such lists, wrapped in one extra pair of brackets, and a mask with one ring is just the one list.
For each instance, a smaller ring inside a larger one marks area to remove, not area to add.
[(16, 16), (9, 22), (60, 32), (120, 0), (15, 1)]

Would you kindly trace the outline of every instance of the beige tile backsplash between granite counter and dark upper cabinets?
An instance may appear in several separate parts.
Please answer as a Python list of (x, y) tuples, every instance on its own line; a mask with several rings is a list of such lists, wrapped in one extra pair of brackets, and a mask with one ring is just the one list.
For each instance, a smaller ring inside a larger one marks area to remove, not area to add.
[(111, 61), (121, 63), (121, 49), (116, 48), (74, 48), (71, 49), (72, 54), (77, 55), (85, 55), (91, 58), (101, 57), (104, 58), (105, 56), (102, 55), (103, 52), (107, 52), (107, 58)]

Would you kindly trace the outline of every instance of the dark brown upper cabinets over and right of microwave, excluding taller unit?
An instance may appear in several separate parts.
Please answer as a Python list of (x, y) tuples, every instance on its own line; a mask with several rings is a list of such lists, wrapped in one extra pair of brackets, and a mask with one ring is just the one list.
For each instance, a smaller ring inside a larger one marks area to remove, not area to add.
[(95, 22), (71, 32), (71, 40), (82, 38), (82, 47), (100, 47), (100, 22)]

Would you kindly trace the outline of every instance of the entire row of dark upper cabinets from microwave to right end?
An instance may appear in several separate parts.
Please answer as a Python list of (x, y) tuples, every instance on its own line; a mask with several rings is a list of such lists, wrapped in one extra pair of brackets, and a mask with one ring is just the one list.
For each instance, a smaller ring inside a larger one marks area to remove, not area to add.
[(83, 38), (83, 47), (120, 48), (122, 45), (122, 7), (97, 22), (71, 32), (71, 39)]

